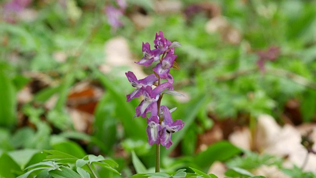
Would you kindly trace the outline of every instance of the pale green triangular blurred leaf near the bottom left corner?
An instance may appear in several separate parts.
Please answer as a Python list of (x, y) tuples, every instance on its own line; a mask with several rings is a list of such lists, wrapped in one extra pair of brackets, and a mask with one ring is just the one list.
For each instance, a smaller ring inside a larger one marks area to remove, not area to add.
[(9, 151), (7, 154), (20, 166), (21, 170), (23, 170), (31, 158), (38, 152), (39, 150), (23, 149)]

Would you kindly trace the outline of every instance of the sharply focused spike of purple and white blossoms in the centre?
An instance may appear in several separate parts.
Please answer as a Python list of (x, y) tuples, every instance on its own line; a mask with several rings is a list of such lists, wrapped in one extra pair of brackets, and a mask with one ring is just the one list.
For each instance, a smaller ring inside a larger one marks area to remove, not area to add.
[[(143, 43), (144, 57), (136, 62), (146, 67), (151, 66), (153, 62), (158, 62), (156, 67), (153, 68), (154, 74), (138, 80), (133, 72), (126, 72), (128, 81), (136, 88), (126, 97), (127, 102), (133, 98), (144, 97), (135, 109), (136, 116), (147, 118), (146, 131), (149, 144), (161, 143), (168, 149), (172, 145), (171, 135), (181, 130), (184, 122), (182, 120), (173, 122), (170, 110), (167, 106), (160, 106), (160, 101), (164, 93), (181, 95), (173, 91), (173, 77), (169, 74), (170, 68), (175, 68), (173, 66), (177, 55), (174, 54), (174, 47), (181, 45), (177, 42), (171, 43), (165, 39), (161, 31), (159, 31), (159, 34), (156, 33), (154, 44), (155, 49), (151, 50), (149, 43)], [(161, 83), (161, 79), (166, 79), (166, 82)], [(156, 88), (153, 89), (153, 86), (156, 86)], [(150, 113), (150, 117), (147, 117), (147, 113)]]

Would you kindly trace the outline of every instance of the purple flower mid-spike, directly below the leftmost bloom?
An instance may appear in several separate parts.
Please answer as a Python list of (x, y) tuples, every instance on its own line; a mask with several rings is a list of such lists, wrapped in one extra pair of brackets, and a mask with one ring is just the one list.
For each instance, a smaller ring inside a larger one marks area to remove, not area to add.
[(155, 89), (152, 89), (150, 86), (142, 87), (143, 95), (145, 99), (136, 107), (136, 116), (142, 116), (146, 118), (146, 113), (154, 109), (157, 110), (157, 101), (159, 99), (160, 93), (164, 89), (173, 89), (172, 85), (169, 82), (160, 84)]

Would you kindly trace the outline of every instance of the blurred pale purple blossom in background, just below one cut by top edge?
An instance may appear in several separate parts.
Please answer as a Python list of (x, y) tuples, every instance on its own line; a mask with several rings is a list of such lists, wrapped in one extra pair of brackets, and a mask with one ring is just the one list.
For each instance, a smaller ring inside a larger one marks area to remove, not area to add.
[(108, 16), (108, 22), (114, 29), (123, 26), (123, 24), (119, 21), (119, 18), (123, 15), (120, 9), (115, 8), (112, 5), (105, 7), (105, 13)]

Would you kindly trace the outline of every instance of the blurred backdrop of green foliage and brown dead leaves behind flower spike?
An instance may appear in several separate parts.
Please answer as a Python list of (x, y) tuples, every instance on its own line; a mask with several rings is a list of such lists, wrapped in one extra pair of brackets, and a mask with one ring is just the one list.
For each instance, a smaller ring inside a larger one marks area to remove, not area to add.
[(186, 123), (161, 148), (163, 172), (316, 177), (316, 0), (1, 0), (0, 7), (0, 177), (26, 173), (50, 149), (111, 157), (122, 175), (96, 168), (102, 178), (154, 172), (146, 120), (132, 119), (141, 100), (126, 102), (133, 88), (125, 72), (150, 74), (134, 62), (159, 31), (182, 45), (181, 70), (170, 73), (186, 95), (162, 100)]

